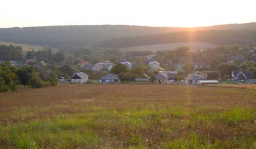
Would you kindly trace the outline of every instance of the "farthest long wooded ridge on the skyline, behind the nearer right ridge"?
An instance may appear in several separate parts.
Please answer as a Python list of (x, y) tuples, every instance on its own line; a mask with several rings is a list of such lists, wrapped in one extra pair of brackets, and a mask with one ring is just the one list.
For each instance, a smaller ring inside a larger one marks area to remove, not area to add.
[[(6, 28), (6, 29), (0, 28), (0, 41), (40, 45), (40, 46), (51, 46), (51, 47), (62, 49), (67, 52), (71, 52), (77, 48), (98, 45), (104, 40), (110, 40), (113, 38), (144, 36), (144, 35), (151, 35), (151, 34), (165, 34), (170, 32), (180, 32), (180, 31), (188, 31), (188, 30), (189, 31), (209, 30), (209, 29), (254, 30), (256, 29), (256, 23), (226, 24), (226, 25), (220, 25), (220, 26), (198, 27), (198, 28), (143, 27), (143, 26), (126, 26), (126, 25), (49, 26), (49, 27), (26, 27), (26, 28)], [(182, 35), (184, 33), (180, 32), (179, 34)], [(137, 44), (134, 44), (134, 45), (137, 45)], [(132, 45), (127, 45), (127, 46), (132, 46)]]

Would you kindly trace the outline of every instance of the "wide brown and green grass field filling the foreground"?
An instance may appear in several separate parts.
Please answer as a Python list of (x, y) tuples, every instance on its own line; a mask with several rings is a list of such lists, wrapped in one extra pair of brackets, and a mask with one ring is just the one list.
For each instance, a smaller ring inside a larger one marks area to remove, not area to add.
[(253, 89), (61, 85), (0, 94), (0, 148), (255, 148)]

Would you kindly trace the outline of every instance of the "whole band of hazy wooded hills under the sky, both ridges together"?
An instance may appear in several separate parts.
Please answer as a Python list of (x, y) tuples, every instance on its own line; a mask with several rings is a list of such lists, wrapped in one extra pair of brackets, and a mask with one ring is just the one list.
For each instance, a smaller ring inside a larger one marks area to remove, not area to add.
[[(241, 31), (237, 32), (238, 29)], [(256, 43), (255, 31), (251, 30), (256, 30), (256, 23), (196, 28), (126, 25), (0, 28), (0, 41), (50, 46), (66, 52), (92, 46), (130, 47), (180, 42), (244, 44), (251, 41), (254, 44)], [(196, 31), (196, 38), (193, 40), (190, 38), (190, 31)], [(207, 38), (205, 39), (205, 37)], [(230, 37), (235, 39), (230, 39)]]

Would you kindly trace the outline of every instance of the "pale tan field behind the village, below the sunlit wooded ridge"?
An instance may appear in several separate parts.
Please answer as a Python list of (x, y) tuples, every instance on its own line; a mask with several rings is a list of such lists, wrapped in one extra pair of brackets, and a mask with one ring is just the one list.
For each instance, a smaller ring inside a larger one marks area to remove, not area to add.
[(133, 46), (119, 48), (119, 51), (167, 51), (174, 50), (181, 46), (189, 46), (192, 51), (197, 49), (205, 49), (216, 47), (217, 45), (203, 43), (203, 42), (190, 42), (190, 43), (170, 43), (170, 44), (156, 44), (156, 45), (145, 45), (145, 46)]

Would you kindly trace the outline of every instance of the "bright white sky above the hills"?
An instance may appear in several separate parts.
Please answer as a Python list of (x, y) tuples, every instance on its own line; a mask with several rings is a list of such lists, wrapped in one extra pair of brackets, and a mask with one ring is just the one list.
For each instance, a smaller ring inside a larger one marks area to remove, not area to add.
[(1, 0), (0, 28), (127, 24), (201, 27), (256, 22), (255, 0)]

